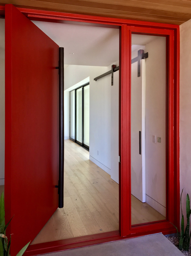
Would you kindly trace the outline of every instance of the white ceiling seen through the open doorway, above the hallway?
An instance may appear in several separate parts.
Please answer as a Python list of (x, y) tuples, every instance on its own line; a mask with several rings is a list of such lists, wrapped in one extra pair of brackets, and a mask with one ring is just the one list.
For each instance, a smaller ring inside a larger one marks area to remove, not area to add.
[(64, 64), (109, 66), (119, 60), (117, 28), (44, 21), (33, 21), (33, 23), (60, 47), (64, 47)]

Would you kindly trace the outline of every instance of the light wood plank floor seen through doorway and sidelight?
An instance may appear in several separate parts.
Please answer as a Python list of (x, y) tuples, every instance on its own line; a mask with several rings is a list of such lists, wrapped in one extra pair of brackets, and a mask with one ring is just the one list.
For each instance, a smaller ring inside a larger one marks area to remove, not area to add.
[[(163, 220), (132, 196), (132, 224)], [(64, 208), (57, 209), (31, 244), (119, 229), (119, 185), (89, 160), (89, 152), (65, 140)]]

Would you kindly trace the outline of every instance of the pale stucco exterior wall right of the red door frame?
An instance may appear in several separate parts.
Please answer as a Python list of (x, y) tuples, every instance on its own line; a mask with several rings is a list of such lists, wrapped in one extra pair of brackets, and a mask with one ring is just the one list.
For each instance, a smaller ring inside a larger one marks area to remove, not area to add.
[[(191, 20), (180, 25), (180, 192), (186, 215), (186, 194), (191, 197)], [(181, 212), (180, 212), (181, 214)], [(181, 218), (180, 218), (181, 220)], [(191, 221), (190, 221), (191, 224)]]

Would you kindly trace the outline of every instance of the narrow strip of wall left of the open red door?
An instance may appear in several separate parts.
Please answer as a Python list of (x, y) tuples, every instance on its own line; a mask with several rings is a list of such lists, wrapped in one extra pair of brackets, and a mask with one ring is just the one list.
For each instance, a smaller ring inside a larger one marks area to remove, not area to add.
[(5, 178), (5, 20), (0, 19), (0, 185)]

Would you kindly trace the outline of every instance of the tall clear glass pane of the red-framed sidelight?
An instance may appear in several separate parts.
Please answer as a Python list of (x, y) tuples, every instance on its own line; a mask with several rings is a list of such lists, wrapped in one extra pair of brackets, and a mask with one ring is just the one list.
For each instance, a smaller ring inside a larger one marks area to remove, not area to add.
[[(148, 58), (139, 61), (140, 50), (148, 52)], [(132, 34), (131, 59), (134, 225), (166, 219), (166, 37)]]

